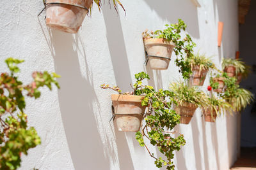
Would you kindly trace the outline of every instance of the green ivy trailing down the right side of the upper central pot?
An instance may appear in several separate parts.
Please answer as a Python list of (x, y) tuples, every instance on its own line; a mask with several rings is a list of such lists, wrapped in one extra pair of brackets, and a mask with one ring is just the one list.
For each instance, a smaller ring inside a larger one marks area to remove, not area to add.
[(166, 29), (163, 31), (157, 30), (155, 32), (147, 31), (143, 32), (143, 38), (163, 38), (165, 41), (172, 41), (175, 44), (173, 51), (177, 58), (175, 60), (176, 65), (179, 67), (179, 72), (182, 73), (184, 79), (188, 79), (191, 72), (191, 66), (186, 57), (191, 58), (193, 56), (193, 48), (196, 44), (192, 41), (191, 36), (186, 34), (182, 38), (182, 31), (186, 31), (187, 25), (183, 20), (179, 19), (177, 24), (166, 24)]

